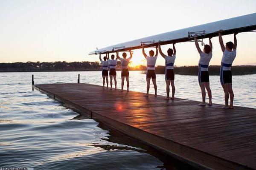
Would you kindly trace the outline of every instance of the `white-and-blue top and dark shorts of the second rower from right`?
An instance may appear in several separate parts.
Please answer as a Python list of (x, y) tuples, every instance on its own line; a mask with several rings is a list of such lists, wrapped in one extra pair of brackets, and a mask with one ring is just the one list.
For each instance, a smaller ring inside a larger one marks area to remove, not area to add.
[(212, 59), (212, 51), (209, 54), (201, 52), (198, 64), (198, 82), (209, 82), (209, 62)]

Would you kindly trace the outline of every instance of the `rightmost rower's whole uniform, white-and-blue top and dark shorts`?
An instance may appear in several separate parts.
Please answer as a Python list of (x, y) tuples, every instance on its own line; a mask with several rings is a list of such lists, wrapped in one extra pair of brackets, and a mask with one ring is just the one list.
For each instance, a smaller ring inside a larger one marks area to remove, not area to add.
[(235, 58), (236, 58), (236, 49), (233, 49), (233, 51), (227, 51), (227, 49), (224, 50), (224, 53), (221, 59), (221, 73), (220, 73), (221, 84), (232, 83), (231, 66)]

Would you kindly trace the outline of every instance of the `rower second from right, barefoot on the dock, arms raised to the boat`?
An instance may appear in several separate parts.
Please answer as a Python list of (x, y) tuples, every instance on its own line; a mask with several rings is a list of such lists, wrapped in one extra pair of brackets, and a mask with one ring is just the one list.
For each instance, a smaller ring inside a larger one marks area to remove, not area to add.
[(198, 50), (198, 53), (200, 54), (200, 59), (198, 63), (198, 82), (199, 86), (201, 88), (202, 93), (202, 102), (198, 105), (205, 106), (205, 88), (207, 90), (207, 94), (209, 97), (208, 105), (212, 105), (212, 91), (210, 89), (210, 82), (209, 82), (209, 71), (208, 66), (209, 62), (212, 59), (212, 42), (211, 38), (209, 37), (209, 45), (204, 45), (204, 51), (201, 51), (201, 48), (199, 47), (198, 40), (197, 40), (197, 34), (195, 34), (195, 47)]

